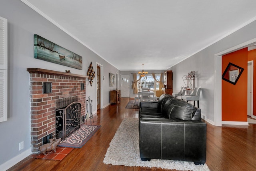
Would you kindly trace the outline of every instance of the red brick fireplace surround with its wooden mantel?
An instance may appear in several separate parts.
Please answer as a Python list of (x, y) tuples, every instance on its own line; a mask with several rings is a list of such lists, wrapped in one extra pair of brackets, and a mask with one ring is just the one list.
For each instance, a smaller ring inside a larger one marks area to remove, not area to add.
[[(86, 113), (86, 78), (78, 74), (27, 68), (30, 73), (31, 146), (38, 153), (43, 137), (56, 136), (56, 103), (60, 99), (75, 97), (81, 103), (81, 121)], [(50, 85), (44, 87), (45, 85)], [(44, 92), (50, 89), (49, 92)], [(58, 103), (57, 103), (58, 105)]]

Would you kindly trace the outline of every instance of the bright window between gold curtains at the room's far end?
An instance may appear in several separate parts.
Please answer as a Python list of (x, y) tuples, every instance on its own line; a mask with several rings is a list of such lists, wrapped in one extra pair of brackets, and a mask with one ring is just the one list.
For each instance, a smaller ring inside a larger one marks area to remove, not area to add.
[[(155, 74), (156, 80), (160, 80), (161, 74)], [(137, 74), (137, 80), (140, 79), (140, 75)], [(152, 76), (152, 74), (148, 74), (145, 77), (142, 77), (140, 79), (140, 82), (137, 83), (137, 87), (149, 87), (151, 90), (158, 90), (159, 89), (159, 83), (156, 82)]]

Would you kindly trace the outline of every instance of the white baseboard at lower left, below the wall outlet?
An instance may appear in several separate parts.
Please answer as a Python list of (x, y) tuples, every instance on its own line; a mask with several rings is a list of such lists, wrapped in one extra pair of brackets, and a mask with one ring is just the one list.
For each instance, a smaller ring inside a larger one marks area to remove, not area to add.
[(27, 149), (26, 151), (22, 152), (21, 154), (13, 157), (12, 159), (6, 161), (5, 163), (3, 163), (2, 165), (0, 165), (0, 170), (1, 171), (6, 171), (7, 169), (10, 169), (12, 166), (16, 165), (17, 163), (19, 163), (20, 161), (22, 161), (23, 159), (25, 159), (26, 157), (28, 157), (29, 155), (31, 155), (31, 149)]

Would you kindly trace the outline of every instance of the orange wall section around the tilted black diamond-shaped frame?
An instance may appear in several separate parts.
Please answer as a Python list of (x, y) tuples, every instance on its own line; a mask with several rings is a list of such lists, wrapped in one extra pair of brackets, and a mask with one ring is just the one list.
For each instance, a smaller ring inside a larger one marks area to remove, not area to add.
[(247, 48), (222, 56), (222, 74), (231, 62), (244, 68), (236, 85), (222, 80), (222, 121), (247, 121)]

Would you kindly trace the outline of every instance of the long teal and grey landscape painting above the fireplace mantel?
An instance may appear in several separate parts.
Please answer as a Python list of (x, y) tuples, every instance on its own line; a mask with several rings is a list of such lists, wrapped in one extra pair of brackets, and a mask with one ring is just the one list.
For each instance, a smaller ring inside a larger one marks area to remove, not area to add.
[(34, 34), (34, 58), (82, 70), (82, 56)]

